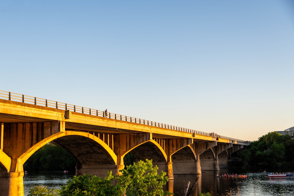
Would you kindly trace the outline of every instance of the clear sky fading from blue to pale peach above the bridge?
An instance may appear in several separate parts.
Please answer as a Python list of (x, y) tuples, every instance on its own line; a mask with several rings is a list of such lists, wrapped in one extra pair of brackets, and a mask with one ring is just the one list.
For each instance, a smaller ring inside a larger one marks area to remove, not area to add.
[(294, 126), (294, 1), (0, 1), (0, 91), (254, 141)]

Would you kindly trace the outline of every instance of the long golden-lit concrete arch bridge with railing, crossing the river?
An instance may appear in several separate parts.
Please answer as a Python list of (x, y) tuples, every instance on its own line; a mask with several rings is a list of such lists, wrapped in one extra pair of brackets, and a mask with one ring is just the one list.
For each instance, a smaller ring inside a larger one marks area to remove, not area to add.
[(119, 174), (132, 153), (136, 161), (152, 159), (169, 179), (228, 167), (249, 143), (7, 91), (0, 91), (0, 124), (1, 196), (24, 195), (23, 164), (49, 142), (74, 155), (76, 176)]

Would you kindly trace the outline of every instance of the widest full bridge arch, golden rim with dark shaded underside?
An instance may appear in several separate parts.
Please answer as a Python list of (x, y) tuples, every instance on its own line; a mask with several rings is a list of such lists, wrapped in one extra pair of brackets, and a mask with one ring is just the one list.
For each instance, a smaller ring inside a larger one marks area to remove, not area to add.
[[(63, 148), (68, 150), (71, 154), (74, 155), (79, 163), (87, 164), (87, 161), (88, 164), (101, 163), (101, 160), (103, 160), (103, 164), (107, 163), (116, 165), (117, 163), (116, 154), (100, 138), (86, 132), (64, 131), (51, 135), (50, 137), (45, 138), (44, 140), (36, 143), (31, 148), (26, 150), (26, 152), (18, 158), (18, 170), (23, 170), (22, 165), (26, 162), (26, 160), (38, 149), (51, 141), (54, 141), (55, 143), (61, 145)], [(87, 149), (88, 153), (83, 151), (85, 149)], [(98, 151), (93, 152), (93, 150)], [(106, 159), (97, 158), (98, 155), (102, 154), (104, 155), (103, 158)], [(87, 160), (88, 158), (91, 158), (91, 160)], [(94, 158), (96, 158), (96, 161), (94, 160)]]

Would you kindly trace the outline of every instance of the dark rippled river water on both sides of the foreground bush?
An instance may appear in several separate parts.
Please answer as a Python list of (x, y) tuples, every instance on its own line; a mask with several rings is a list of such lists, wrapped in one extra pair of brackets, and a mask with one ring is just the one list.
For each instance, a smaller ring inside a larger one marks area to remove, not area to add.
[[(292, 172), (292, 170), (273, 170), (273, 172)], [(245, 178), (215, 177), (224, 173), (245, 173)], [(199, 180), (192, 190), (192, 195), (197, 196), (199, 192), (209, 192), (211, 196), (293, 196), (294, 179), (268, 179), (263, 172), (232, 171), (221, 169), (220, 171), (205, 171), (201, 175), (174, 175), (174, 180), (169, 180), (164, 190), (173, 192), (175, 196), (182, 196), (183, 190), (190, 181), (190, 189), (197, 177)], [(29, 194), (29, 189), (36, 186), (47, 186), (49, 189), (60, 189), (74, 172), (29, 172), (24, 176), (24, 195)]]

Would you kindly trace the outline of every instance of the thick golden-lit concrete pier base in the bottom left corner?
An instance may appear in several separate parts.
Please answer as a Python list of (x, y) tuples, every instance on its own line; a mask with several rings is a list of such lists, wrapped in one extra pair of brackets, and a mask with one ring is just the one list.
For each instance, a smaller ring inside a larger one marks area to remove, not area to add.
[(0, 196), (24, 195), (24, 172), (0, 173)]

